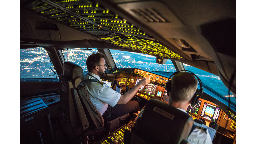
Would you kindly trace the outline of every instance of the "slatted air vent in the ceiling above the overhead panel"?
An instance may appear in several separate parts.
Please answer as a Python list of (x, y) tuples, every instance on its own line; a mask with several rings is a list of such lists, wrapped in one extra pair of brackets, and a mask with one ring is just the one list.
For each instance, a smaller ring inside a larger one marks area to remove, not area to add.
[(168, 22), (157, 10), (153, 8), (131, 9), (146, 22)]

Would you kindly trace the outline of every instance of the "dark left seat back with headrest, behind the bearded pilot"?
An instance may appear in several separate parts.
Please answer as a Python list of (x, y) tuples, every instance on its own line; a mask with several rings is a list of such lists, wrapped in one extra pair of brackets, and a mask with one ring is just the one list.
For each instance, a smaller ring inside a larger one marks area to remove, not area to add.
[(60, 79), (60, 104), (61, 111), (69, 119), (76, 136), (89, 127), (86, 114), (81, 106), (80, 99), (74, 89), (79, 85), (83, 69), (72, 62), (63, 63), (63, 75)]

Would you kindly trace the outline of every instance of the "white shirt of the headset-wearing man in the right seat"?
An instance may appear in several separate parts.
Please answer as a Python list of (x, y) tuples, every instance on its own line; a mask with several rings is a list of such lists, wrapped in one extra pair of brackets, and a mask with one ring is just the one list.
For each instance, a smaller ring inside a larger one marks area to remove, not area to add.
[[(183, 109), (180, 109), (180, 108), (177, 108), (177, 109), (187, 113)], [(144, 109), (141, 110), (138, 117), (142, 115), (143, 110)], [(208, 132), (208, 129), (204, 131), (204, 130), (195, 128), (191, 132), (191, 134), (188, 136), (187, 141), (189, 142), (189, 144), (212, 144), (212, 139)]]

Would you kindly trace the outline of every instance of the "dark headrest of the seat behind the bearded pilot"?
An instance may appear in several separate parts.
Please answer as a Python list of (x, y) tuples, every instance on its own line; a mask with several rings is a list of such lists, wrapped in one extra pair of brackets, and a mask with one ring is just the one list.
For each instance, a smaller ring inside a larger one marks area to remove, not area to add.
[(63, 75), (75, 83), (76, 79), (83, 79), (83, 69), (72, 62), (63, 63)]

